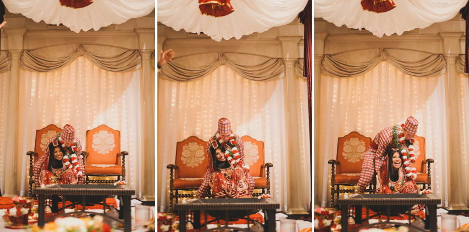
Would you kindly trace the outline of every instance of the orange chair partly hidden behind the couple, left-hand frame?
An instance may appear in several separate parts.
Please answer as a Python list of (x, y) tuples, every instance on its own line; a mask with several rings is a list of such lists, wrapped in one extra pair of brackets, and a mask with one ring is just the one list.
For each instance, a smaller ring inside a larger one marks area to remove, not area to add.
[(47, 142), (49, 139), (57, 134), (58, 132), (61, 132), (62, 129), (58, 128), (57, 126), (50, 124), (40, 130), (36, 130), (36, 142), (34, 144), (34, 151), (28, 151), (26, 152), (26, 155), (29, 156), (29, 196), (36, 196), (36, 194), (33, 195), (33, 185), (34, 180), (33, 180), (33, 166), (36, 163), (39, 158), (43, 156), (45, 153), (45, 148), (49, 145)]

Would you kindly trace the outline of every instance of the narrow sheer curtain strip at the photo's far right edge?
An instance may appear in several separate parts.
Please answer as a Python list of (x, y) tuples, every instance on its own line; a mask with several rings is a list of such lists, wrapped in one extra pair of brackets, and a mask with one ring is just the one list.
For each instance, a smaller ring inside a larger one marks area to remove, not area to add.
[(463, 129), (461, 131), (463, 138), (463, 144), (462, 144), (462, 151), (464, 152), (464, 160), (461, 161), (463, 164), (463, 172), (461, 173), (462, 175), (460, 176), (461, 178), (461, 186), (459, 191), (459, 194), (462, 194), (462, 199), (464, 200), (464, 205), (467, 205), (469, 203), (469, 195), (467, 192), (469, 192), (469, 179), (467, 178), (469, 176), (469, 101), (467, 101), (467, 98), (469, 97), (469, 78), (467, 74), (459, 73), (456, 72), (457, 78), (460, 79), (460, 89), (458, 89), (458, 94), (461, 95), (461, 100), (458, 101), (458, 105), (460, 106), (461, 109), (461, 114), (459, 117), (461, 118), (462, 122), (461, 125), (463, 126)]

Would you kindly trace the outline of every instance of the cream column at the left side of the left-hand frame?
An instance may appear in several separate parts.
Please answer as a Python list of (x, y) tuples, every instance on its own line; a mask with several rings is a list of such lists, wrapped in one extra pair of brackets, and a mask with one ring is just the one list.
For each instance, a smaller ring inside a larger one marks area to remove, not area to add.
[(8, 50), (12, 55), (12, 68), (10, 74), (10, 86), (8, 94), (7, 132), (5, 147), (5, 165), (9, 171), (5, 172), (5, 195), (14, 197), (17, 191), (18, 157), (24, 154), (18, 153), (18, 105), (20, 91), (20, 57), (23, 52), (23, 37), (26, 28), (4, 29), (8, 35)]

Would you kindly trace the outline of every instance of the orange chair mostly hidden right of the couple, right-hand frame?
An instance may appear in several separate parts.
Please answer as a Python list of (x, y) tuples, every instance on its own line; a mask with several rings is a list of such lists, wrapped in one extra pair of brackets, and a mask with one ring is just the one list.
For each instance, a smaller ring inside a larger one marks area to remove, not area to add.
[(414, 136), (414, 153), (416, 155), (415, 163), (412, 167), (417, 169), (417, 178), (415, 183), (423, 185), (423, 189), (428, 186), (428, 189), (432, 189), (432, 177), (430, 175), (430, 164), (433, 163), (433, 159), (426, 159), (425, 154), (425, 138), (421, 136)]

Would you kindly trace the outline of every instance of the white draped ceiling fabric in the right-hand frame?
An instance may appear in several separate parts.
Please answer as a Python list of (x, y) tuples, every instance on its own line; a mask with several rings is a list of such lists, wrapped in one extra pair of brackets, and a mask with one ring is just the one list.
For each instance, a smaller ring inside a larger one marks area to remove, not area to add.
[(393, 0), (396, 8), (384, 12), (364, 11), (360, 0), (315, 0), (314, 17), (348, 28), (362, 29), (378, 37), (401, 35), (452, 19), (467, 0)]

